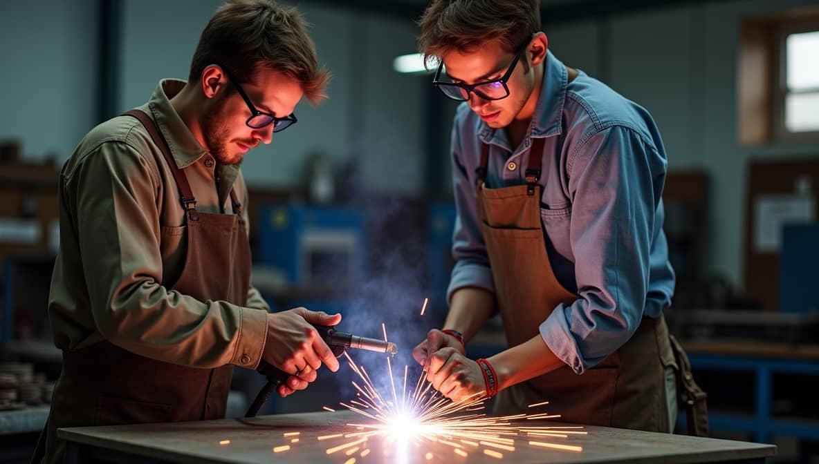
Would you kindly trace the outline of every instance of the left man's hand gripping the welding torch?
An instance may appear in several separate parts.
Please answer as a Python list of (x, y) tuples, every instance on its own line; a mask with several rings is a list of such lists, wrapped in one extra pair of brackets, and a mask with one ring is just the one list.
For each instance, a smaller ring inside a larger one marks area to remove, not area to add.
[(319, 335), (314, 325), (336, 325), (342, 315), (328, 315), (305, 308), (267, 315), (267, 340), (262, 359), (275, 368), (292, 373), (278, 386), (278, 395), (285, 397), (304, 390), (316, 378), (316, 370), (327, 364), (338, 370), (338, 359)]

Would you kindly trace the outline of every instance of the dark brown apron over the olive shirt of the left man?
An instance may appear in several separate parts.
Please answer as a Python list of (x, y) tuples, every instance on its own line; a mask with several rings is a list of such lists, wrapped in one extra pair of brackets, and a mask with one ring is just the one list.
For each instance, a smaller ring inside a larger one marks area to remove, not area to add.
[[(242, 205), (230, 191), (234, 214), (196, 210), (188, 179), (176, 166), (165, 138), (140, 110), (128, 113), (147, 128), (174, 173), (187, 212), (188, 254), (179, 279), (166, 288), (199, 301), (229, 301), (244, 306), (250, 285), (251, 251)], [(218, 271), (217, 271), (218, 270)], [(102, 341), (64, 351), (46, 428), (32, 462), (44, 456), (62, 462), (66, 444), (57, 428), (147, 422), (179, 422), (224, 417), (233, 366), (191, 368), (123, 350)]]

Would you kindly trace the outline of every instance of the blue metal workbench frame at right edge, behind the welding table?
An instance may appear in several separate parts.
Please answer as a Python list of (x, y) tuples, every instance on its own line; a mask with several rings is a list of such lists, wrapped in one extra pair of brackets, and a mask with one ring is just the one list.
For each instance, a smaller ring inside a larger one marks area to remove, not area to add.
[(709, 401), (710, 430), (747, 433), (758, 443), (770, 443), (775, 435), (819, 440), (819, 417), (813, 420), (775, 417), (772, 404), (775, 374), (819, 376), (819, 359), (771, 359), (703, 353), (689, 354), (688, 357), (695, 376), (698, 370), (753, 373), (753, 413), (721, 413), (718, 405)]

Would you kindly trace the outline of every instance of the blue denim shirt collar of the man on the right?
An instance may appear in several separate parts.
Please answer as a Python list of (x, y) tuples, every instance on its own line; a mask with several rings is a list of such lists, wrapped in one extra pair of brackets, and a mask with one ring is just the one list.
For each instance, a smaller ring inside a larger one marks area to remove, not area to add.
[[(563, 132), (563, 103), (566, 100), (568, 87), (568, 70), (560, 60), (546, 52), (544, 60), (541, 96), (532, 116), (530, 133), (535, 137), (556, 136)], [(483, 120), (478, 123), (478, 134), (481, 141), (495, 145), (509, 145), (505, 131), (493, 129)], [(528, 143), (528, 141), (527, 141)], [(513, 148), (514, 149), (514, 148)]]

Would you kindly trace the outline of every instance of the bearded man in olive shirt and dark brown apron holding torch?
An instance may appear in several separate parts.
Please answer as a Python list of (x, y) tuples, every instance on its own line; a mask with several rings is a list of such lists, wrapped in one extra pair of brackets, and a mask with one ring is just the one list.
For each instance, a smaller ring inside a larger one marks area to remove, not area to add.
[(304, 21), (230, 0), (201, 33), (188, 82), (95, 127), (62, 168), (61, 247), (48, 312), (63, 352), (34, 462), (61, 462), (57, 428), (224, 417), (233, 366), (292, 373), (290, 395), (338, 361), (311, 324), (269, 313), (251, 286), (249, 149), (296, 123), (328, 83)]

